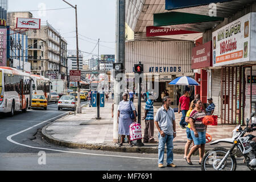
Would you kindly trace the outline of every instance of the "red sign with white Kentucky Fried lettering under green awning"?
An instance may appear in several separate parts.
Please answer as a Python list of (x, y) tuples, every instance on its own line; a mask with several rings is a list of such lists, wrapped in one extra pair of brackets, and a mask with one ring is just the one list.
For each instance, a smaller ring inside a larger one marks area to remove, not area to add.
[(197, 34), (200, 32), (180, 30), (179, 28), (171, 27), (146, 27), (147, 36), (164, 36), (164, 35), (181, 35), (181, 34)]

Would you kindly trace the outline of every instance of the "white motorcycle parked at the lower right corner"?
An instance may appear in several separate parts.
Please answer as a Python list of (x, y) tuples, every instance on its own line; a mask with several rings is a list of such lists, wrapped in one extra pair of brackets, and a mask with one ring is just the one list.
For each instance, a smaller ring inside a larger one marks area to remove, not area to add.
[[(251, 113), (251, 118), (254, 117), (255, 113)], [(250, 119), (251, 119), (250, 118)], [(247, 167), (249, 167), (252, 171), (256, 169), (256, 143), (251, 141), (255, 136), (247, 135), (244, 137), (246, 133), (250, 133), (251, 131), (255, 131), (256, 129), (252, 129), (256, 126), (255, 123), (251, 124), (251, 128), (248, 127), (249, 119), (246, 119), (246, 128), (242, 129), (241, 125), (238, 125), (236, 129), (233, 130), (233, 137), (216, 140), (210, 144), (217, 144), (220, 142), (224, 143), (232, 143), (232, 147), (227, 150), (223, 147), (216, 147), (213, 150), (208, 151), (201, 162), (201, 170), (202, 171), (236, 171), (237, 162), (235, 155), (238, 150), (241, 151), (243, 157), (245, 158), (244, 162)], [(234, 151), (235, 148), (238, 148)]]

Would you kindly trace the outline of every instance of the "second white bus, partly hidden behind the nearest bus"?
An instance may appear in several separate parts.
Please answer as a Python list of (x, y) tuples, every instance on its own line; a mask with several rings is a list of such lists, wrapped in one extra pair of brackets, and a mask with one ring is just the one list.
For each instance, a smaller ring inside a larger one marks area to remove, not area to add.
[(33, 94), (44, 94), (47, 104), (51, 101), (51, 81), (40, 75), (31, 75)]

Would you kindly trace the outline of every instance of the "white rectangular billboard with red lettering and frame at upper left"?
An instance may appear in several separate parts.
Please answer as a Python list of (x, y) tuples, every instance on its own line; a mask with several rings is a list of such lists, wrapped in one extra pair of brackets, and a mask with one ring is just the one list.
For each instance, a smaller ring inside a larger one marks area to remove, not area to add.
[(40, 29), (41, 19), (17, 18), (16, 28)]

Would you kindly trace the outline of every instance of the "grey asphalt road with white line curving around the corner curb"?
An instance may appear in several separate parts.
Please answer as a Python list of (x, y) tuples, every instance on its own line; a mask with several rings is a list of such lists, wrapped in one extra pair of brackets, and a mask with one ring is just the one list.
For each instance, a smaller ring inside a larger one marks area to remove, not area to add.
[[(71, 149), (53, 146), (42, 140), (37, 131), (47, 125), (48, 122), (44, 121), (68, 111), (58, 111), (56, 104), (50, 104), (46, 111), (28, 110), (14, 117), (0, 118), (0, 170), (200, 171), (197, 156), (192, 157), (195, 165), (188, 166), (183, 155), (175, 154), (177, 168), (159, 169), (157, 154)], [(248, 170), (241, 159), (237, 169)]]

